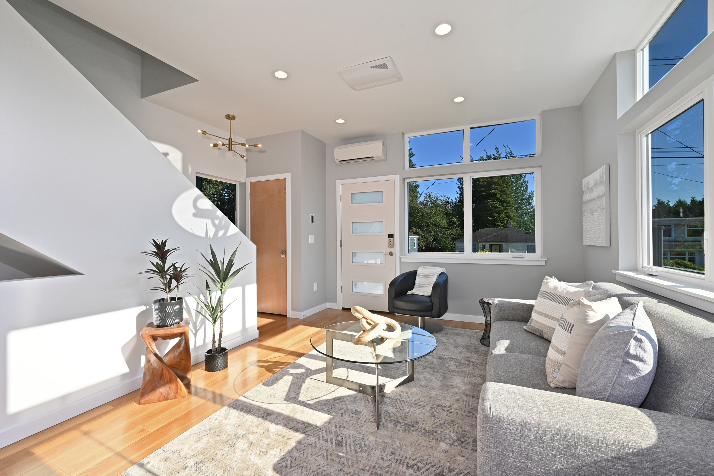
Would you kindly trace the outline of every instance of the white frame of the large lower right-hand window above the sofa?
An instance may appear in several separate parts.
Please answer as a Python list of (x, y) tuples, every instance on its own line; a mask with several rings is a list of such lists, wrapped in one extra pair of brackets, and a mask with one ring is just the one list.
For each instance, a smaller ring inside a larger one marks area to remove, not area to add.
[[(649, 158), (649, 134), (663, 124), (668, 123), (676, 116), (694, 106), (699, 101), (704, 102), (704, 197), (705, 210), (714, 210), (714, 168), (708, 161), (711, 146), (714, 145), (714, 76), (701, 83), (698, 87), (675, 101), (671, 106), (655, 116), (651, 121), (639, 128), (637, 134), (637, 245), (638, 245), (638, 270), (647, 273), (649, 268), (656, 269), (665, 280), (675, 280), (682, 283), (696, 285), (700, 288), (714, 289), (714, 259), (708, 253), (708, 237), (714, 225), (712, 213), (705, 213), (704, 217), (704, 268), (705, 274), (688, 273), (685, 270), (672, 268), (659, 268), (652, 265), (652, 176)], [(646, 267), (646, 268), (645, 268)]]

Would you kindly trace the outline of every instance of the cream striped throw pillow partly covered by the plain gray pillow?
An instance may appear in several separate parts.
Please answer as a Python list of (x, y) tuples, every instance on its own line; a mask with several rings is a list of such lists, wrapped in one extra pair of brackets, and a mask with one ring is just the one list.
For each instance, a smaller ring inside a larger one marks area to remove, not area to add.
[(568, 305), (558, 321), (545, 358), (545, 377), (551, 387), (575, 388), (580, 361), (590, 340), (603, 324), (622, 311), (618, 298), (590, 301), (580, 298)]

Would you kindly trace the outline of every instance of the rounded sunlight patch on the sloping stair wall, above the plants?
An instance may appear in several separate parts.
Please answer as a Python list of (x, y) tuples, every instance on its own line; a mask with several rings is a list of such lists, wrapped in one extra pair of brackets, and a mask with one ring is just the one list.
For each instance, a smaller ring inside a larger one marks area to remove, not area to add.
[(196, 187), (176, 198), (171, 213), (181, 228), (196, 236), (218, 238), (238, 233), (238, 228)]

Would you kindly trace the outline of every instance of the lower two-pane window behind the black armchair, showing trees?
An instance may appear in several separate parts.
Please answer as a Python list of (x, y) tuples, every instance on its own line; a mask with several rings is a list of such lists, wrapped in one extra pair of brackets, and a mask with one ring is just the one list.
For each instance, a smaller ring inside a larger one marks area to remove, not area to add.
[[(408, 253), (488, 258), (481, 253), (540, 252), (535, 171), (488, 174), (407, 182)], [(471, 210), (464, 210), (464, 203), (471, 203)]]

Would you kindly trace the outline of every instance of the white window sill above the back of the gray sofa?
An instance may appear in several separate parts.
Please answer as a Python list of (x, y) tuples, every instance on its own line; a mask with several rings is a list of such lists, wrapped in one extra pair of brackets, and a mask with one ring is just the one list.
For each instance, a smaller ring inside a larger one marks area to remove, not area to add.
[(636, 286), (665, 298), (677, 300), (698, 309), (714, 313), (714, 290), (700, 288), (692, 283), (683, 283), (668, 276), (651, 276), (638, 271), (615, 271), (615, 279)]

